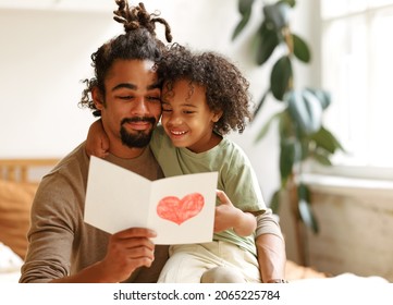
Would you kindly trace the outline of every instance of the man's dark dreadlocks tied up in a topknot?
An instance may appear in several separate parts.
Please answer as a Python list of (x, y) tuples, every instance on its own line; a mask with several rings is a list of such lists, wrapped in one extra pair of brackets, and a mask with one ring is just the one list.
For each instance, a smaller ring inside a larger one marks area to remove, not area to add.
[(165, 51), (165, 45), (156, 36), (156, 23), (164, 25), (167, 41), (172, 41), (171, 28), (165, 20), (158, 17), (158, 13), (149, 14), (144, 3), (128, 7), (125, 0), (115, 0), (115, 2), (119, 9), (113, 11), (113, 19), (123, 24), (125, 34), (110, 39), (91, 54), (95, 77), (83, 81), (86, 88), (78, 103), (82, 108), (93, 110), (95, 117), (100, 117), (101, 112), (93, 101), (91, 90), (98, 87), (105, 96), (105, 80), (115, 60), (151, 60), (157, 63)]

